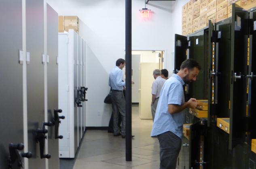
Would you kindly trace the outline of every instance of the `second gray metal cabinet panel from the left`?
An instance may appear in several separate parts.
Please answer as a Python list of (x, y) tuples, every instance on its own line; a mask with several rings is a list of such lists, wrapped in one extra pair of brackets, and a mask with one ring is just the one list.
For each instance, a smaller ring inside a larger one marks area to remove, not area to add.
[[(26, 49), (27, 49), (27, 106), (28, 150), (33, 156), (29, 168), (44, 169), (45, 159), (40, 157), (37, 129), (44, 122), (44, 2), (26, 0)], [(44, 152), (42, 152), (44, 153)]]

